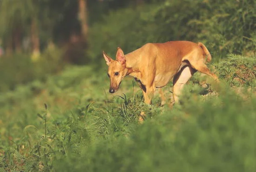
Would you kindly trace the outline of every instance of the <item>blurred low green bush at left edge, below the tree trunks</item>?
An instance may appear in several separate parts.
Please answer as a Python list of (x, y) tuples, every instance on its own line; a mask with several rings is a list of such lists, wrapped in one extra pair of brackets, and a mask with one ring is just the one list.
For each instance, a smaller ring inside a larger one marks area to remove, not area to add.
[(14, 54), (0, 59), (0, 92), (14, 90), (35, 79), (45, 80), (49, 74), (62, 70), (61, 50), (46, 50), (37, 61), (28, 54)]

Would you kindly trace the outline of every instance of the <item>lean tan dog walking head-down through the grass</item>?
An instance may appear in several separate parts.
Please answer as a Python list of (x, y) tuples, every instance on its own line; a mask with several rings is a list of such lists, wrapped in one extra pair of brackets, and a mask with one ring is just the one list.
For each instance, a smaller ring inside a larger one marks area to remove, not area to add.
[[(218, 80), (206, 66), (206, 61), (211, 61), (211, 55), (201, 42), (198, 44), (189, 41), (148, 43), (126, 55), (118, 47), (116, 60), (111, 59), (104, 52), (103, 56), (108, 65), (109, 93), (115, 93), (122, 79), (130, 75), (141, 87), (146, 104), (151, 104), (155, 89), (166, 86), (172, 78), (174, 78), (175, 103), (179, 102), (182, 87), (196, 71)], [(141, 112), (140, 121), (143, 120), (144, 115)]]

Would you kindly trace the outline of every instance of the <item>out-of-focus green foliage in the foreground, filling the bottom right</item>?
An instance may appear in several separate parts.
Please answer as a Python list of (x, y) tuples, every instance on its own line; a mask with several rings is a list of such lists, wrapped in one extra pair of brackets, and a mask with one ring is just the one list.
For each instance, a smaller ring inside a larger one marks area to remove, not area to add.
[(183, 106), (135, 126), (130, 136), (98, 139), (54, 166), (57, 171), (94, 172), (254, 171), (256, 99), (244, 102), (222, 89), (220, 97), (200, 104), (197, 95), (184, 97)]

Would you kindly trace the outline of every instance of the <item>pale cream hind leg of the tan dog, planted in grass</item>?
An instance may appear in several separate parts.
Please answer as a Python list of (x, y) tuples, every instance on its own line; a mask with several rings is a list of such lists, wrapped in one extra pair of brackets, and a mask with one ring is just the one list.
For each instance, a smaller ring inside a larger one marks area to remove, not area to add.
[(173, 78), (173, 98), (175, 103), (179, 103), (183, 86), (189, 81), (192, 75), (196, 72), (191, 66), (184, 66), (179, 73)]

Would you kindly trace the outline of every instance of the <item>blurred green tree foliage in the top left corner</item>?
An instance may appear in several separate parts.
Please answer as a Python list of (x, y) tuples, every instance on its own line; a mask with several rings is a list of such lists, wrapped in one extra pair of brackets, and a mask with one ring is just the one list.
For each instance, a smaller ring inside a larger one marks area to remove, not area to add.
[[(39, 52), (39, 32), (36, 20), (38, 19), (38, 4), (33, 0), (3, 0), (0, 2), (0, 36), (3, 37), (7, 54), (21, 53), (21, 42), (27, 30), (31, 30), (33, 52)], [(28, 29), (31, 28), (31, 29)], [(14, 46), (14, 47), (13, 47)]]

